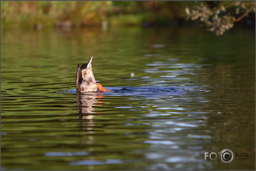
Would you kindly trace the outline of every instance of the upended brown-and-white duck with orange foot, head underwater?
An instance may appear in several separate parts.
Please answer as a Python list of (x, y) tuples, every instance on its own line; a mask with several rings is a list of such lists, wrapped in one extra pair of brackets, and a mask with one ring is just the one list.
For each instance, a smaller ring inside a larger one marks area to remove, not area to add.
[[(93, 56), (92, 56), (93, 57)], [(83, 64), (79, 68), (77, 66), (77, 77), (76, 77), (76, 86), (77, 92), (88, 92), (88, 91), (108, 91), (100, 83), (96, 83), (95, 78), (92, 73), (92, 57), (90, 61)]]

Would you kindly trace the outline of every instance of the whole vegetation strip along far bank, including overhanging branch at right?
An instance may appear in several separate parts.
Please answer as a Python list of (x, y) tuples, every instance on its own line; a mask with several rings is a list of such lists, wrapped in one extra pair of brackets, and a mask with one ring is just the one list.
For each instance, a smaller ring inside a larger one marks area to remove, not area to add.
[(1, 28), (176, 26), (187, 17), (222, 35), (252, 13), (254, 22), (255, 1), (1, 1)]

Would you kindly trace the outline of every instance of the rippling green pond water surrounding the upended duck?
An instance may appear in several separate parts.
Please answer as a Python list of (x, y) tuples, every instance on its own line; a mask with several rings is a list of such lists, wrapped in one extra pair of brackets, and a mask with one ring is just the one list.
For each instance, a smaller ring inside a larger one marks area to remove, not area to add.
[(1, 30), (1, 169), (255, 170), (255, 29)]

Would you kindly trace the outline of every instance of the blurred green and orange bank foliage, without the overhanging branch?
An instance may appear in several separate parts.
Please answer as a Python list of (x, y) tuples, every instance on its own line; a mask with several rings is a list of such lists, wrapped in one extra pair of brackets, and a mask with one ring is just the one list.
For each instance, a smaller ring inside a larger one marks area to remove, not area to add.
[[(214, 8), (218, 1), (199, 1)], [(234, 1), (222, 1), (228, 5)], [(194, 1), (1, 1), (1, 28), (84, 27), (101, 25), (180, 26)], [(255, 4), (255, 2), (254, 2)], [(185, 9), (187, 11), (185, 12)], [(236, 10), (235, 8), (230, 8)], [(242, 10), (241, 10), (242, 11)], [(190, 12), (190, 11), (189, 11)], [(192, 11), (193, 12), (193, 11)], [(189, 13), (191, 15), (191, 13)], [(236, 14), (238, 15), (238, 14)], [(248, 15), (247, 15), (248, 16)], [(250, 16), (255, 25), (255, 13)], [(243, 21), (245, 23), (245, 21)]]

